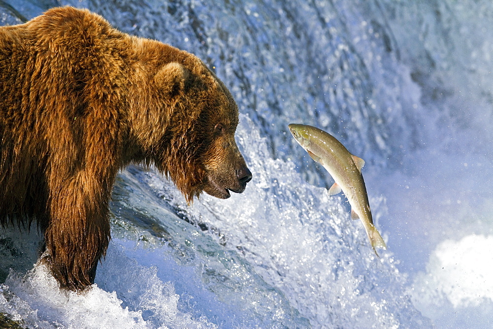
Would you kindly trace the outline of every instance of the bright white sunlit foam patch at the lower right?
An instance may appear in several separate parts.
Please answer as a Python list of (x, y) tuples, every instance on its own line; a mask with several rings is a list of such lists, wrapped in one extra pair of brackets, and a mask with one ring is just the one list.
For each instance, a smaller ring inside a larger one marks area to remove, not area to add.
[(492, 235), (441, 242), (409, 290), (416, 307), (439, 327), (484, 328), (493, 320), (491, 250)]

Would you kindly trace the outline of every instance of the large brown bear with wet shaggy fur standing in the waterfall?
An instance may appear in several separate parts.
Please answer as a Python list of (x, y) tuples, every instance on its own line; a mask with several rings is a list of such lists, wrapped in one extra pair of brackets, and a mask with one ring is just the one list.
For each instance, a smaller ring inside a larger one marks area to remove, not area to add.
[(197, 57), (88, 10), (0, 28), (0, 222), (37, 223), (61, 287), (94, 282), (126, 165), (154, 165), (188, 202), (242, 193), (237, 125), (230, 92)]

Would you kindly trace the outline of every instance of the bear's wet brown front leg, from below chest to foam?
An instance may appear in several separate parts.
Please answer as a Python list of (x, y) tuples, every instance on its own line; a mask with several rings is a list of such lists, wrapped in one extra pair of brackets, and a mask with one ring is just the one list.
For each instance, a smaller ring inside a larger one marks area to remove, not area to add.
[(94, 283), (110, 239), (108, 183), (80, 173), (51, 191), (46, 251), (53, 276), (63, 288), (80, 290)]

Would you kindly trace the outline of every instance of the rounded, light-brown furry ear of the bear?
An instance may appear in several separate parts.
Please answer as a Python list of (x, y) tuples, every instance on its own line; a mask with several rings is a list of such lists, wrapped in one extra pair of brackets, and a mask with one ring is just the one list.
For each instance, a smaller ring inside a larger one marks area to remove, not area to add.
[(176, 97), (185, 86), (183, 66), (176, 62), (163, 65), (154, 75), (154, 83), (165, 97)]

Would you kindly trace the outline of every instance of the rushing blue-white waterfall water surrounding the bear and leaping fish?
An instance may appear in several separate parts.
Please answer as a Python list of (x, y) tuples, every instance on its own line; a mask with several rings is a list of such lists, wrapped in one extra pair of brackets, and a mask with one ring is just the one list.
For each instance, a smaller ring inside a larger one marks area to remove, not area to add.
[[(85, 294), (32, 266), (35, 231), (9, 229), (0, 313), (42, 328), (493, 321), (491, 1), (12, 0), (0, 19), (58, 4), (213, 67), (240, 106), (237, 142), (254, 177), (241, 195), (187, 206), (154, 171), (125, 170), (113, 239)], [(388, 246), (380, 259), (345, 197), (327, 196), (331, 178), (291, 138), (292, 122), (366, 161)]]

